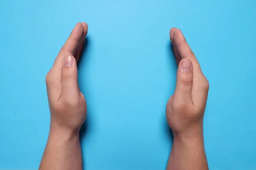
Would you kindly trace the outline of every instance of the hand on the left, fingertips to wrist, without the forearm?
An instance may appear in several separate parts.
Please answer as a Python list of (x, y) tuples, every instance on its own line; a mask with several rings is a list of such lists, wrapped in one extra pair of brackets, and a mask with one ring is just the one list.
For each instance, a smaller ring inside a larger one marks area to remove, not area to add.
[(79, 90), (76, 62), (81, 56), (87, 30), (86, 23), (76, 24), (46, 76), (50, 132), (79, 132), (86, 119), (86, 101)]

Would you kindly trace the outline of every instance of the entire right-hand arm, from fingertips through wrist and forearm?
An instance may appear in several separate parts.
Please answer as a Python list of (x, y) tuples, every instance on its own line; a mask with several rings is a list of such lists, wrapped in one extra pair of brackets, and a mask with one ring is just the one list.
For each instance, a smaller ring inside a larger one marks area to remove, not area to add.
[(167, 170), (208, 170), (203, 118), (209, 82), (182, 32), (172, 28), (170, 39), (178, 68), (175, 92), (166, 105), (174, 136)]

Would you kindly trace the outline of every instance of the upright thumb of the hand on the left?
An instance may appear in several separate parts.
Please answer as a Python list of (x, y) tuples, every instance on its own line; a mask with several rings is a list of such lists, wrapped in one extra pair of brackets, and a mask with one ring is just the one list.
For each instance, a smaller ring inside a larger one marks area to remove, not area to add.
[(61, 74), (62, 94), (64, 99), (72, 99), (79, 95), (77, 80), (76, 59), (71, 55), (66, 55), (63, 59)]

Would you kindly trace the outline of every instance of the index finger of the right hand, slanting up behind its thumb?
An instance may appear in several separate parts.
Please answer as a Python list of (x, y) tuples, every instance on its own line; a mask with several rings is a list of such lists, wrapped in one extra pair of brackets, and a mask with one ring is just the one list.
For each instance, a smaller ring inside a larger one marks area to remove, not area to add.
[(195, 54), (189, 47), (180, 29), (175, 29), (173, 31), (173, 42), (181, 59), (187, 58), (192, 61), (193, 71), (195, 72), (195, 74), (202, 73), (198, 60), (195, 58)]

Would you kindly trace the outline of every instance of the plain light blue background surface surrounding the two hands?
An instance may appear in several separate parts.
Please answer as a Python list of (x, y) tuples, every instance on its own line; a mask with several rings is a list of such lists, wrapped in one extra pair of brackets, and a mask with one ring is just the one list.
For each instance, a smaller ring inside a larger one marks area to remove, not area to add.
[(165, 169), (175, 26), (210, 83), (204, 118), (210, 169), (255, 170), (255, 17), (255, 0), (1, 0), (0, 169), (38, 168), (49, 131), (45, 76), (72, 28), (85, 21), (84, 169)]

